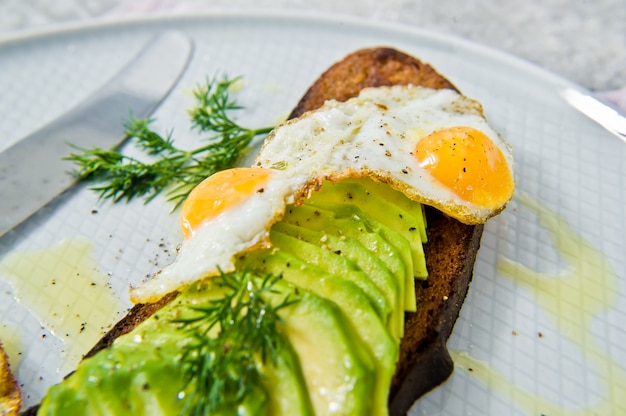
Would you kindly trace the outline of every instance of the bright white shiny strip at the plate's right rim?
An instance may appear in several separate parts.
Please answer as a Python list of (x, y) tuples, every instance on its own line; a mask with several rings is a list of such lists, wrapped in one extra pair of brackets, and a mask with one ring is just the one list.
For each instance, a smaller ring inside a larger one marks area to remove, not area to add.
[(561, 96), (572, 107), (626, 142), (626, 117), (589, 94), (567, 88)]

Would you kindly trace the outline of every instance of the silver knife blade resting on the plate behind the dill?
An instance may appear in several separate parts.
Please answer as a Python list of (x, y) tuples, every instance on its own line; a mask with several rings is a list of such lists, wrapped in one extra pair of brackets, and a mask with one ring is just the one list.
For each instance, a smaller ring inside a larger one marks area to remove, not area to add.
[(112, 148), (126, 139), (123, 120), (148, 117), (186, 69), (191, 40), (156, 35), (92, 96), (0, 153), (0, 237), (76, 183), (63, 160), (72, 149)]

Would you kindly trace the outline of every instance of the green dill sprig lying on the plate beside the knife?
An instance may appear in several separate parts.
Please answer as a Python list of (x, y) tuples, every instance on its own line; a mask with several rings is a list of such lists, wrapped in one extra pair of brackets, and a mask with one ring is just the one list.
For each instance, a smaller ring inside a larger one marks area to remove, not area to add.
[(114, 202), (135, 197), (151, 201), (165, 189), (178, 206), (189, 192), (206, 177), (235, 165), (257, 136), (273, 127), (250, 129), (235, 122), (230, 113), (242, 107), (230, 91), (238, 77), (208, 79), (193, 92), (195, 104), (189, 109), (191, 129), (208, 133), (207, 143), (193, 150), (176, 147), (171, 132), (165, 137), (151, 129), (153, 119), (130, 117), (124, 123), (131, 143), (151, 161), (122, 154), (118, 149), (84, 149), (68, 156), (77, 165), (73, 174), (79, 180), (103, 182), (92, 187), (102, 199)]

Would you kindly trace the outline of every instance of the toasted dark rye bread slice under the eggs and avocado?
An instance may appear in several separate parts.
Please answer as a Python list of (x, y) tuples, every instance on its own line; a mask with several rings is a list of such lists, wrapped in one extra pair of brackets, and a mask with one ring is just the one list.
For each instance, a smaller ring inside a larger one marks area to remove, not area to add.
[[(314, 110), (328, 99), (354, 97), (366, 87), (402, 84), (456, 89), (432, 67), (407, 54), (390, 48), (362, 49), (324, 72), (289, 118)], [(429, 277), (416, 285), (417, 312), (406, 314), (405, 337), (389, 396), (391, 415), (406, 414), (415, 400), (450, 376), (453, 363), (446, 341), (467, 294), (482, 236), (482, 225), (464, 225), (434, 209), (427, 210), (427, 217), (424, 251)], [(135, 305), (86, 357), (109, 347), (175, 296), (170, 294), (155, 304)]]

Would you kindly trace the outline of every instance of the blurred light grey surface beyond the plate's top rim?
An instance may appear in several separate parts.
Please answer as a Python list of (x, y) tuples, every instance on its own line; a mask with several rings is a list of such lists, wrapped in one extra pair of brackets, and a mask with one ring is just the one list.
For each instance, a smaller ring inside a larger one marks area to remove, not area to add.
[(0, 38), (93, 19), (251, 9), (401, 23), (506, 51), (595, 91), (626, 85), (626, 0), (0, 0)]

